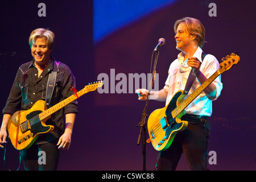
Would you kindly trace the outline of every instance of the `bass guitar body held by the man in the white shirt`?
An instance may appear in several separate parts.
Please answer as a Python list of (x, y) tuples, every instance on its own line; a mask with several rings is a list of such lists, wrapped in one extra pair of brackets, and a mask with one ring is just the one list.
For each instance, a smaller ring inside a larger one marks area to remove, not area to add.
[(162, 109), (154, 110), (148, 117), (147, 128), (150, 140), (157, 151), (167, 150), (171, 146), (175, 135), (187, 128), (188, 122), (181, 121), (185, 114), (182, 111), (176, 118), (172, 118), (171, 111), (184, 99), (183, 91), (178, 91), (168, 105)]

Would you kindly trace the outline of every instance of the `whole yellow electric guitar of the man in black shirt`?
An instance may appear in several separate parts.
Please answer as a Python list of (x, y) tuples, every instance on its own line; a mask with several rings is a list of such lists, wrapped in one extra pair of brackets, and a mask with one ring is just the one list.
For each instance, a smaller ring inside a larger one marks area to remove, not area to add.
[(75, 92), (72, 96), (49, 109), (47, 109), (46, 101), (39, 100), (29, 110), (16, 111), (7, 125), (11, 143), (17, 150), (26, 150), (41, 134), (50, 133), (54, 129), (54, 126), (46, 125), (46, 121), (51, 118), (51, 114), (102, 85), (102, 81), (86, 85), (84, 89)]

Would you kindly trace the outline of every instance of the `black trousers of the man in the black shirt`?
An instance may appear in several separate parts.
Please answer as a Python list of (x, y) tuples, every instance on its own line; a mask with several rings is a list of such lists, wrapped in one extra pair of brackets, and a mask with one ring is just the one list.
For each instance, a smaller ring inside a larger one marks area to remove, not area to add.
[(22, 150), (21, 156), (26, 171), (56, 171), (60, 150), (56, 144), (59, 138), (44, 144), (32, 144)]

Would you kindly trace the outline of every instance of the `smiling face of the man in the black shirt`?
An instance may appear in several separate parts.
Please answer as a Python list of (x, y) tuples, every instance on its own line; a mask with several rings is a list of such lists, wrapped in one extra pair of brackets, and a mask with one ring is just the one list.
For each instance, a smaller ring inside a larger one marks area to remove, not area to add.
[(39, 66), (46, 65), (50, 60), (52, 49), (49, 49), (47, 39), (45, 37), (37, 38), (31, 45), (31, 54), (35, 63)]

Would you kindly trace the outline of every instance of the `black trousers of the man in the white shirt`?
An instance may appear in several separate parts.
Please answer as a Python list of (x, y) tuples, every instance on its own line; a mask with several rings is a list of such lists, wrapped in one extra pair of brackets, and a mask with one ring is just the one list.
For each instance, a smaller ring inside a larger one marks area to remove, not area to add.
[(176, 134), (166, 151), (159, 151), (156, 170), (174, 171), (184, 154), (192, 171), (207, 170), (210, 123), (207, 117), (185, 114), (181, 120), (188, 121), (187, 129)]

